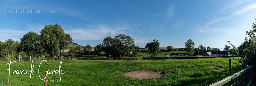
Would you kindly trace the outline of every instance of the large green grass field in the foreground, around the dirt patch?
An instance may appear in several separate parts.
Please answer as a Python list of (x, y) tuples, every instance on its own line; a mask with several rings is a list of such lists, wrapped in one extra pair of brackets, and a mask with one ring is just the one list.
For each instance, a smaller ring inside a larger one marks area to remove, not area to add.
[[(229, 58), (202, 58), (184, 60), (73, 60), (62, 61), (61, 70), (66, 71), (61, 75), (61, 82), (48, 82), (49, 86), (177, 86), (191, 85), (204, 82), (210, 78), (228, 74)], [(238, 59), (238, 58), (236, 58)], [(7, 81), (8, 66), (7, 62), (0, 61), (0, 82), (2, 79)], [(60, 61), (44, 62), (40, 67), (40, 75), (44, 78), (44, 71), (58, 70)], [(38, 66), (40, 61), (35, 61), (34, 74), (29, 75), (10, 75), (12, 86), (42, 86), (43, 80), (38, 76)], [(232, 59), (232, 67), (237, 67), (238, 61)], [(30, 70), (31, 62), (12, 63), (13, 70)], [(220, 67), (213, 69), (210, 66)], [(164, 76), (156, 79), (132, 79), (124, 76), (125, 72), (135, 70), (159, 70), (165, 73)], [(59, 80), (59, 75), (48, 75), (48, 80)], [(26, 82), (26, 83), (25, 83)]]

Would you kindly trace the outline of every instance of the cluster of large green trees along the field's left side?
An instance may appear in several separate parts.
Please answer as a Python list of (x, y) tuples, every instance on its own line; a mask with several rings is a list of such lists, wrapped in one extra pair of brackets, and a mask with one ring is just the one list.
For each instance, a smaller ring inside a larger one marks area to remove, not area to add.
[(69, 34), (66, 34), (60, 25), (45, 25), (37, 34), (28, 32), (22, 38), (20, 43), (12, 39), (0, 41), (1, 57), (12, 56), (17, 58), (20, 53), (24, 56), (59, 56), (62, 49), (67, 48), (68, 43), (72, 41)]

